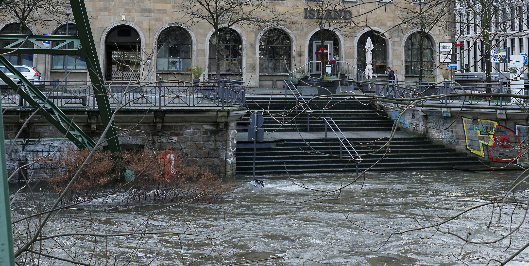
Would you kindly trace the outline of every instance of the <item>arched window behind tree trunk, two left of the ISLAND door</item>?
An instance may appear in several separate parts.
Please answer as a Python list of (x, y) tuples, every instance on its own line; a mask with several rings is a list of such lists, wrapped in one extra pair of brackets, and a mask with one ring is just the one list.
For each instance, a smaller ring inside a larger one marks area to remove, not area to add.
[(217, 71), (217, 63), (220, 72), (242, 71), (242, 40), (239, 33), (233, 29), (220, 29), (220, 42), (218, 42), (218, 58), (216, 53), (215, 35), (209, 39), (209, 71)]

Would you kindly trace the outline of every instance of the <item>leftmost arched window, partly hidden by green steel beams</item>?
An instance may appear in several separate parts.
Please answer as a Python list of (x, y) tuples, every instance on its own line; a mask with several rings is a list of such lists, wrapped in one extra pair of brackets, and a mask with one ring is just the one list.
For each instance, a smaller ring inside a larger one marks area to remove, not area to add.
[[(33, 34), (31, 32), (30, 28), (26, 25), (21, 27), (20, 23), (11, 23), (2, 29), (0, 31), (2, 34)], [(1, 40), (0, 41), (0, 47), (6, 47), (7, 45), (14, 43), (16, 40)], [(19, 48), (19, 45), (15, 45), (14, 48)], [(20, 48), (34, 48), (33, 43), (31, 42), (24, 42)], [(33, 66), (33, 54), (7, 54), (4, 56), (11, 65), (26, 65), (26, 66)]]

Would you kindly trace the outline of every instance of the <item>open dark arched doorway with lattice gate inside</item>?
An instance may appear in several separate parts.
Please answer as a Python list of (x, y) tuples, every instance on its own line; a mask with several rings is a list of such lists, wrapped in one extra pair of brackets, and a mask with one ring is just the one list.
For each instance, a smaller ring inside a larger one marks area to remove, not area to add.
[(114, 27), (106, 36), (106, 80), (136, 81), (140, 79), (140, 35), (127, 25)]

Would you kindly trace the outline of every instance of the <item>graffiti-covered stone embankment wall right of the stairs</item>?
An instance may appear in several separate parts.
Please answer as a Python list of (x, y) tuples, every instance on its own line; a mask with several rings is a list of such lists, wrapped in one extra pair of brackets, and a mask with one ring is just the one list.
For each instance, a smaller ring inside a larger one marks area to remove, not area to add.
[(529, 167), (529, 113), (517, 106), (423, 105), (403, 110), (399, 103), (376, 103), (398, 121), (400, 130), (422, 135), (447, 148), (493, 163)]

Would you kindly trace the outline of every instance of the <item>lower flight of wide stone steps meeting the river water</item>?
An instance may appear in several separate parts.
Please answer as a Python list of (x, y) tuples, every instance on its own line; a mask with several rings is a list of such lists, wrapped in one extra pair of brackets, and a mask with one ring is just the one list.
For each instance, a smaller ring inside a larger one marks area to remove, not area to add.
[[(321, 173), (321, 172), (355, 172), (353, 161), (342, 157), (340, 159), (340, 144), (336, 139), (307, 139), (311, 147), (322, 153), (311, 154), (313, 149), (299, 139), (282, 140), (278, 142), (259, 143), (256, 148), (256, 172), (260, 175), (284, 174), (285, 164), (289, 173)], [(372, 144), (362, 145), (373, 141)], [(384, 141), (376, 141), (364, 137), (352, 142), (355, 150), (362, 155), (359, 169), (365, 170), (382, 158), (370, 171), (405, 171), (405, 170), (448, 170), (456, 166), (482, 165), (477, 157), (470, 157), (466, 153), (446, 149), (443, 145), (433, 144), (424, 137), (396, 138), (391, 142), (390, 152), (378, 149)], [(236, 172), (249, 175), (253, 169), (253, 143), (238, 141)], [(373, 153), (373, 154), (368, 154)], [(342, 150), (342, 154), (347, 152)], [(345, 167), (345, 168), (344, 168)]]

